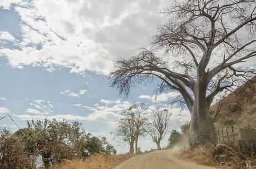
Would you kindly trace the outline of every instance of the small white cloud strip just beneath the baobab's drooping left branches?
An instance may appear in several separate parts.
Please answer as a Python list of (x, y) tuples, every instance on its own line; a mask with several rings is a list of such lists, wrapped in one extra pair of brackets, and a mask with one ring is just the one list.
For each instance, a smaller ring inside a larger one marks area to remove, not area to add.
[(169, 92), (169, 93), (161, 93), (160, 95), (152, 96), (152, 97), (149, 95), (141, 95), (141, 96), (139, 96), (139, 98), (145, 98), (152, 102), (167, 102), (171, 98), (175, 98), (177, 96), (179, 96), (178, 92)]

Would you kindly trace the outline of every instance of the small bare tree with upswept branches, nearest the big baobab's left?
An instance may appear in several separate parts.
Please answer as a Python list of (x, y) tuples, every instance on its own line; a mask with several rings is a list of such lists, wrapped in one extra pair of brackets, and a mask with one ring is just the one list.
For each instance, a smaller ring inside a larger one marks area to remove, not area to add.
[(171, 115), (168, 110), (154, 110), (152, 111), (152, 123), (150, 126), (150, 136), (152, 141), (157, 145), (157, 150), (161, 150), (160, 143), (168, 134), (168, 129), (171, 124)]

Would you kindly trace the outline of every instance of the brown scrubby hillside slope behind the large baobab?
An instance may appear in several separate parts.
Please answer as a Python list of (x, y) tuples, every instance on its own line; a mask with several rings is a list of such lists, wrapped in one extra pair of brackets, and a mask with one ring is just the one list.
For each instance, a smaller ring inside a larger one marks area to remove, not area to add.
[(217, 127), (227, 120), (234, 120), (237, 128), (245, 128), (248, 121), (249, 125), (256, 127), (256, 76), (211, 106), (211, 115), (218, 110), (220, 113), (219, 120), (216, 122)]

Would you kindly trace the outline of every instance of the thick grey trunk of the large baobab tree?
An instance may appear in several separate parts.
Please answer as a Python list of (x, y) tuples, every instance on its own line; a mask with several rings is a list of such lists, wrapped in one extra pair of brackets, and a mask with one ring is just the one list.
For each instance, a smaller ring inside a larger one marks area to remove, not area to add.
[[(198, 79), (200, 81), (200, 78)], [(206, 86), (204, 83), (198, 82), (195, 89), (189, 136), (189, 145), (192, 149), (201, 145), (214, 146), (217, 142), (214, 122), (209, 114), (209, 105), (205, 98)]]

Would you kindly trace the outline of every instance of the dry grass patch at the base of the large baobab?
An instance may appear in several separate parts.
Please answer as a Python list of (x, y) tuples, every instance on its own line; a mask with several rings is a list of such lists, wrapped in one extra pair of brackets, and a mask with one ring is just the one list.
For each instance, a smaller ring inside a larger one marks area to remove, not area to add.
[(199, 165), (218, 166), (218, 162), (213, 157), (213, 148), (202, 146), (195, 148), (194, 151), (184, 148), (180, 156), (183, 160), (194, 161)]

